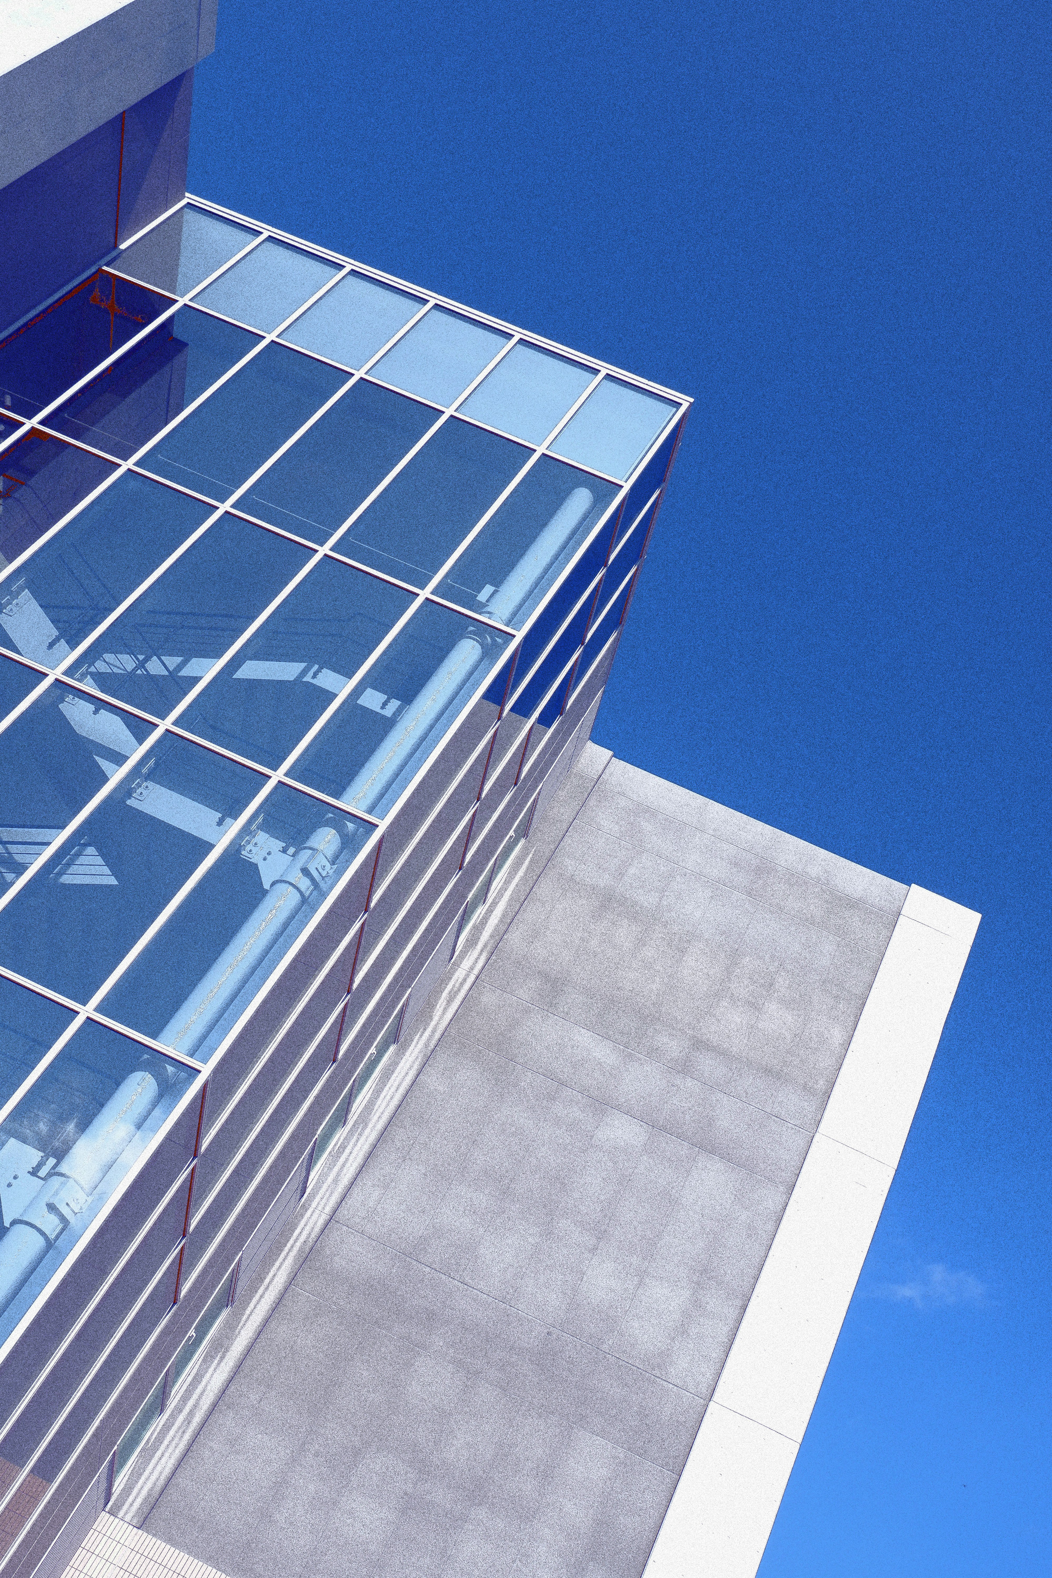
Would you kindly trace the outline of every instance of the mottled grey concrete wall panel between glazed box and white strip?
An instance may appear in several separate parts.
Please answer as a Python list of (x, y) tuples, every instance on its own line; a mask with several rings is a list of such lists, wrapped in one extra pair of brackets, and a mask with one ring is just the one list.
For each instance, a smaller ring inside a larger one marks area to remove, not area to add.
[(145, 1528), (639, 1578), (905, 892), (607, 762)]

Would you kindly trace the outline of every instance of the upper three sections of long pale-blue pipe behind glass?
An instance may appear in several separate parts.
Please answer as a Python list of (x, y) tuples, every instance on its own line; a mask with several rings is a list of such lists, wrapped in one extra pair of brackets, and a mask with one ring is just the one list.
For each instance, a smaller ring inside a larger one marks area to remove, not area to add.
[[(516, 617), (580, 529), (593, 503), (587, 488), (574, 488), (486, 603), (491, 619), (506, 625)], [(486, 630), (472, 630), (457, 641), (339, 795), (344, 805), (355, 811), (372, 811), (413, 757), (424, 754), (435, 726), (445, 721), (473, 683), (489, 641)], [(158, 1041), (194, 1054), (297, 918), (303, 903), (315, 892), (323, 895), (333, 887), (339, 849), (339, 833), (333, 827), (323, 825), (311, 833), (178, 1013), (158, 1032)]]

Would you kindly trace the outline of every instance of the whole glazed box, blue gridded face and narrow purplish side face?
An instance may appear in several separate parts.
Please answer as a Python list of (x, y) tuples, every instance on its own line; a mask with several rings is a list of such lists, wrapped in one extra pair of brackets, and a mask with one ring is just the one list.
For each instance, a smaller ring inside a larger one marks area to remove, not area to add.
[(520, 841), (686, 409), (194, 200), (0, 341), (13, 1551)]

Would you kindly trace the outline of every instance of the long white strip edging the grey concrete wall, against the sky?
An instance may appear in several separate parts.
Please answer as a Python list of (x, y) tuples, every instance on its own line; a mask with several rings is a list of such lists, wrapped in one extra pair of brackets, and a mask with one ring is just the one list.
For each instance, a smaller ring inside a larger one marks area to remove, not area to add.
[(978, 925), (907, 893), (644, 1578), (754, 1578)]

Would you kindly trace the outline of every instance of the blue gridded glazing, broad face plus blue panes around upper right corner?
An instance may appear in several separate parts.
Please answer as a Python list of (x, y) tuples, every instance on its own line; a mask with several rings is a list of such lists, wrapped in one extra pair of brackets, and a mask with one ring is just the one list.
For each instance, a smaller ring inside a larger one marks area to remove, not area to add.
[(192, 200), (103, 264), (0, 342), (0, 1338), (686, 410)]

